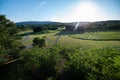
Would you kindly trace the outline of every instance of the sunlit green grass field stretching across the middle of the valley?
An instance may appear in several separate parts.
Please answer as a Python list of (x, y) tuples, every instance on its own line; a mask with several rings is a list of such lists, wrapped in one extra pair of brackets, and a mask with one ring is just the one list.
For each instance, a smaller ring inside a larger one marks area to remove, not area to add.
[[(31, 45), (32, 40), (35, 37), (42, 38), (43, 36), (47, 37), (47, 47), (52, 47), (59, 37), (59, 31), (51, 31), (50, 33), (42, 33), (42, 34), (30, 34), (26, 40), (26, 36), (23, 36), (22, 43), (25, 46)], [(72, 37), (71, 37), (72, 36)], [(102, 48), (102, 47), (111, 47), (118, 51), (120, 51), (120, 41), (94, 41), (94, 40), (82, 40), (77, 38), (87, 38), (87, 39), (120, 39), (119, 31), (110, 31), (110, 32), (91, 32), (84, 34), (69, 34), (69, 35), (61, 35), (57, 44), (66, 46), (66, 47), (82, 47), (85, 49), (94, 49), (94, 48)], [(77, 38), (73, 38), (77, 37)]]

